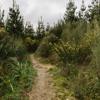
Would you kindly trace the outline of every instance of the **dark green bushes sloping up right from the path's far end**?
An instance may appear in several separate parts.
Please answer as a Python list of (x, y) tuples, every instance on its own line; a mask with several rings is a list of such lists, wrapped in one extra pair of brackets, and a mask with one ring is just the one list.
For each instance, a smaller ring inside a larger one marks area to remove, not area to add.
[(50, 31), (41, 41), (36, 53), (44, 58), (49, 57), (49, 60), (52, 59), (50, 56), (55, 55), (52, 54), (52, 46), (51, 43), (57, 43), (61, 37), (61, 33), (63, 31), (63, 21), (58, 21), (54, 27), (50, 28)]

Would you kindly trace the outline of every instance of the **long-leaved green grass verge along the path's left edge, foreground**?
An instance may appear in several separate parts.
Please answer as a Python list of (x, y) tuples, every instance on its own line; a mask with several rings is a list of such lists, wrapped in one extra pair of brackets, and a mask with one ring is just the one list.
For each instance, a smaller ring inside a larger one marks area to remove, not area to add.
[(9, 66), (8, 74), (2, 77), (0, 100), (28, 100), (28, 92), (32, 89), (36, 73), (30, 61)]

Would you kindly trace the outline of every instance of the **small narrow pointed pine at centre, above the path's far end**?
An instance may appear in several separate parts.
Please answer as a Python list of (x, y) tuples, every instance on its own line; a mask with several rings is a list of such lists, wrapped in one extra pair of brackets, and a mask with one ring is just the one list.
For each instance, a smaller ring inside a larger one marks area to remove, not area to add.
[(41, 20), (38, 21), (38, 27), (37, 27), (36, 34), (37, 34), (38, 39), (42, 39), (45, 36), (45, 27), (44, 27), (42, 17), (41, 17)]

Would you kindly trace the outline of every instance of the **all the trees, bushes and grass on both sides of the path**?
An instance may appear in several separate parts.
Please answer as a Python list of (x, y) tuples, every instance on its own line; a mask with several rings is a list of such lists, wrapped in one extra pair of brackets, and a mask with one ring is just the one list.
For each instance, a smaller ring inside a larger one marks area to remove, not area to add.
[(50, 74), (59, 100), (100, 100), (100, 2), (82, 0), (78, 10), (69, 0), (63, 19), (45, 26), (41, 17), (36, 30), (13, 3), (7, 21), (0, 13), (0, 99), (29, 99), (34, 54), (56, 66)]

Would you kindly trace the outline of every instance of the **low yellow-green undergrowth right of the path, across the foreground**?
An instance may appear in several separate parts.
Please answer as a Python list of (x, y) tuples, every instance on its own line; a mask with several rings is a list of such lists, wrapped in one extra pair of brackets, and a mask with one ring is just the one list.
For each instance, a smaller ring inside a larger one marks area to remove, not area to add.
[(63, 76), (59, 68), (51, 69), (60, 100), (100, 100), (100, 78), (95, 66), (78, 68), (76, 76)]

